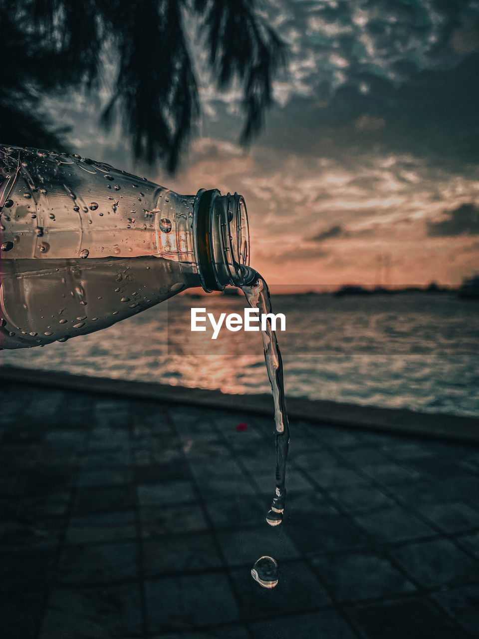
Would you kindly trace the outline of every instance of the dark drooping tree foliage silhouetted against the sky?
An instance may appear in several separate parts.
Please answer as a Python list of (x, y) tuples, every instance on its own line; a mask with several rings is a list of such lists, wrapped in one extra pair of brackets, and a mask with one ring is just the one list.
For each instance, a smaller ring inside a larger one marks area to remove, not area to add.
[(240, 140), (261, 130), (285, 47), (258, 16), (255, 0), (0, 0), (0, 139), (65, 150), (65, 131), (38, 113), (45, 94), (99, 89), (103, 52), (118, 70), (101, 121), (121, 118), (135, 158), (169, 171), (199, 118), (185, 12), (199, 18), (218, 87), (243, 87)]

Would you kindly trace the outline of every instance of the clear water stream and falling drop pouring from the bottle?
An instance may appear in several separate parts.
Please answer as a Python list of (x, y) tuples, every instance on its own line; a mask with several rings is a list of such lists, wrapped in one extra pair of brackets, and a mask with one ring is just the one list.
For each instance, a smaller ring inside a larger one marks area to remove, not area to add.
[[(259, 316), (271, 313), (271, 297), (266, 281), (256, 273), (252, 284), (241, 286), (241, 290), (252, 308), (259, 309)], [(266, 521), (270, 526), (278, 526), (283, 520), (286, 498), (286, 461), (289, 449), (289, 423), (284, 397), (283, 364), (275, 331), (271, 328), (270, 318), (266, 318), (266, 331), (261, 331), (264, 360), (275, 406), (275, 444), (276, 444), (276, 488)], [(274, 574), (273, 574), (274, 573)], [(253, 578), (264, 588), (273, 588), (278, 583), (278, 565), (272, 557), (261, 557), (252, 568)], [(271, 577), (273, 574), (273, 577)], [(271, 578), (270, 578), (271, 577)]]

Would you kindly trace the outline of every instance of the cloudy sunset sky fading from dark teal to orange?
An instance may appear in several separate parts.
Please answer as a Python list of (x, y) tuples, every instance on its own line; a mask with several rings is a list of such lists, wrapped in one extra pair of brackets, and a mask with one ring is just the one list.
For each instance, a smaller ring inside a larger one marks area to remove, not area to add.
[(82, 155), (178, 192), (243, 194), (251, 264), (271, 284), (459, 284), (479, 272), (479, 2), (261, 8), (289, 59), (249, 150), (237, 142), (241, 91), (215, 88), (199, 42), (200, 136), (176, 176), (134, 166), (118, 130), (98, 128), (95, 100), (45, 106)]

